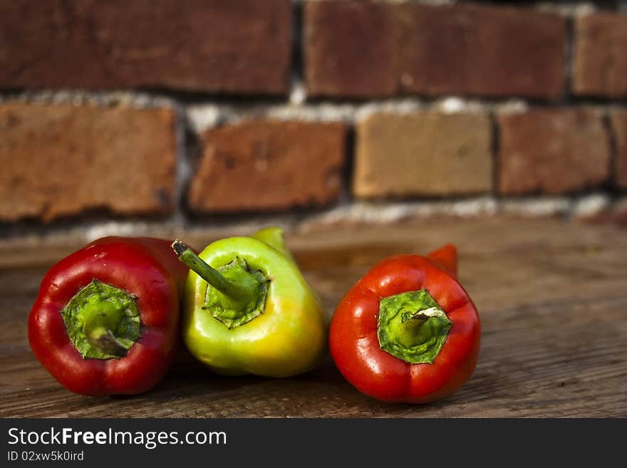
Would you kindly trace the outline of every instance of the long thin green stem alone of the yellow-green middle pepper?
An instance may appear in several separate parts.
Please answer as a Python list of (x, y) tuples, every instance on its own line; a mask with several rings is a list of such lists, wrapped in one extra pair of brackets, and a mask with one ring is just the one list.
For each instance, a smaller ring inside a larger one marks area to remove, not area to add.
[(257, 281), (247, 281), (247, 278), (243, 276), (237, 279), (227, 278), (178, 239), (172, 242), (172, 249), (174, 249), (178, 259), (190, 270), (195, 271), (204, 281), (227, 296), (232, 308), (246, 308), (251, 302), (257, 302), (257, 296), (259, 296)]

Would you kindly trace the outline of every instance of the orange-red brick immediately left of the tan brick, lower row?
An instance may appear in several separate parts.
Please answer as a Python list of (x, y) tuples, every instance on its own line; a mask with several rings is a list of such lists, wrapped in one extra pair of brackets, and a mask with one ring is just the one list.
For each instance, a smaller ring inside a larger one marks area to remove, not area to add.
[(200, 212), (286, 209), (338, 199), (345, 160), (341, 123), (249, 120), (202, 135), (190, 207)]

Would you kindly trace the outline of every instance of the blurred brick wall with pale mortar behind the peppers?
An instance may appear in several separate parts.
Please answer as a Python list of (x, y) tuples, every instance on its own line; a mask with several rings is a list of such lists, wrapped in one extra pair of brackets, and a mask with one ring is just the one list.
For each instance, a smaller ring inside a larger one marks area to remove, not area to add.
[(2, 235), (624, 206), (627, 2), (0, 2), (0, 165)]

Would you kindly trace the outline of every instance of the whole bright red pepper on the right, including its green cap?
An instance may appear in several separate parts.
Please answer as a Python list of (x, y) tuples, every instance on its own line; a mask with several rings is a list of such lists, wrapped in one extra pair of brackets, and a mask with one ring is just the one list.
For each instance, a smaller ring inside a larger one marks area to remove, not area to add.
[(477, 308), (455, 279), (457, 251), (380, 261), (338, 304), (331, 356), (361, 392), (386, 402), (450, 395), (477, 363)]

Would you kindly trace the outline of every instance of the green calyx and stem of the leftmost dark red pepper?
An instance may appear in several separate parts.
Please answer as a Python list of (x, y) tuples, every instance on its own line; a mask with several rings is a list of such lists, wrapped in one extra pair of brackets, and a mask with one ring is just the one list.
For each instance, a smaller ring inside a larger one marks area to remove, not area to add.
[(137, 298), (97, 279), (71, 298), (61, 317), (83, 359), (122, 358), (141, 338)]

